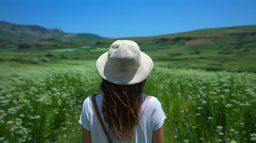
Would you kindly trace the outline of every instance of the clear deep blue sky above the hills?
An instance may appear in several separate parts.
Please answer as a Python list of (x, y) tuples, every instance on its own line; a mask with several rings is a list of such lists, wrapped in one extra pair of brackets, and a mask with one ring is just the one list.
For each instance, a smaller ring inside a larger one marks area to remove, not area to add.
[(255, 0), (0, 0), (0, 21), (107, 38), (256, 24)]

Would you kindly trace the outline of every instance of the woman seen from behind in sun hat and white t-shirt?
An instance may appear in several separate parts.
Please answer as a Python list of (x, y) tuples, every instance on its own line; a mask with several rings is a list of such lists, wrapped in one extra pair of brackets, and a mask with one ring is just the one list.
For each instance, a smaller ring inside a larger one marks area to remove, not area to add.
[(98, 58), (96, 67), (103, 78), (102, 94), (84, 101), (79, 120), (83, 143), (164, 142), (166, 117), (161, 103), (143, 94), (153, 68), (151, 58), (133, 41), (116, 41)]

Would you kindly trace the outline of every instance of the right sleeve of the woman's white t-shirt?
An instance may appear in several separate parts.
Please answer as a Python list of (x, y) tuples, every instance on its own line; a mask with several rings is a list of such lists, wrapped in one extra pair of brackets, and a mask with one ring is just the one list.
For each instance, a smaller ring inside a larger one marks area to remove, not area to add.
[(158, 100), (156, 104), (156, 111), (153, 116), (154, 116), (154, 122), (155, 122), (153, 126), (153, 130), (158, 130), (164, 125), (164, 121), (166, 119), (165, 113), (162, 110), (161, 102), (159, 102)]

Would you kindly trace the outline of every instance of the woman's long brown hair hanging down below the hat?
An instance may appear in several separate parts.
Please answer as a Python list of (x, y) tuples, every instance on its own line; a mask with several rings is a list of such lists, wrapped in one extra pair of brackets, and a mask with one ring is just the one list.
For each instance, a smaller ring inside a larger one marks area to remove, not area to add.
[(101, 110), (109, 125), (109, 131), (121, 140), (133, 138), (134, 129), (140, 122), (143, 82), (134, 85), (118, 85), (102, 79), (103, 102)]

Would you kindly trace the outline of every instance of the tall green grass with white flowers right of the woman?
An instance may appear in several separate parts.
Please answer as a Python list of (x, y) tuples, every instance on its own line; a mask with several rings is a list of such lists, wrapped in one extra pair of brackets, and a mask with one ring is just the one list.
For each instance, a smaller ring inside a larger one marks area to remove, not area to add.
[(162, 102), (166, 142), (252, 142), (256, 75), (156, 69), (147, 89)]

